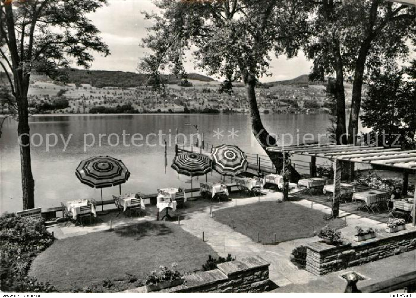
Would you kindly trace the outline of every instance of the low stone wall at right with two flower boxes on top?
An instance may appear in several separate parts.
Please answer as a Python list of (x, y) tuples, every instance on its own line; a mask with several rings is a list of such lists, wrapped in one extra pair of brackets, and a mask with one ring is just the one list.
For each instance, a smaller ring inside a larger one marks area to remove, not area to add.
[(339, 246), (313, 242), (306, 245), (306, 270), (324, 275), (416, 249), (416, 230), (377, 232), (376, 238)]

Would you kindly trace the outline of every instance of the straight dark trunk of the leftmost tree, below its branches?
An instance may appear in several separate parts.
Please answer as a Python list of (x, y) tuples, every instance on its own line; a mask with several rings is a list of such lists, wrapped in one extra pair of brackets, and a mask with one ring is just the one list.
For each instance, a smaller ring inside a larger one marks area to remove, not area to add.
[(35, 181), (32, 175), (30, 160), (30, 128), (27, 97), (17, 99), (19, 105), (19, 125), (17, 133), (20, 139), (20, 167), (22, 171), (23, 209), (35, 208), (34, 190)]

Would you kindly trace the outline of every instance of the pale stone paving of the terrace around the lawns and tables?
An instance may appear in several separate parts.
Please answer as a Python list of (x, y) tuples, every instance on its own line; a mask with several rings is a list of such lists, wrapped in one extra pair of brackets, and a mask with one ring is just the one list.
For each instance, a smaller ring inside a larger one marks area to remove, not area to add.
[[(234, 195), (234, 194), (233, 194)], [(233, 195), (231, 198), (233, 198)], [(280, 192), (268, 192), (266, 195), (260, 197), (261, 202), (265, 201), (275, 201), (281, 199), (282, 194)], [(304, 195), (302, 195), (304, 197)], [(314, 208), (325, 213), (330, 213), (331, 208), (329, 204), (325, 202), (318, 203), (312, 202), (311, 197), (307, 195), (308, 199), (303, 199), (300, 195), (291, 196), (293, 204), (300, 204), (305, 207)], [(312, 197), (314, 198), (314, 197)], [(325, 197), (326, 198), (326, 197)], [(258, 202), (258, 197), (248, 197), (241, 198), (237, 195), (237, 199), (230, 199), (228, 202), (221, 203), (212, 203), (206, 200), (198, 199), (197, 201), (188, 201), (186, 209), (178, 210), (178, 212), (173, 212), (175, 216), (174, 220), (177, 220), (178, 216), (181, 217), (181, 227), (185, 231), (199, 237), (202, 241), (202, 232), (204, 232), (205, 241), (210, 245), (219, 255), (226, 256), (227, 254), (232, 254), (237, 259), (243, 256), (250, 255), (259, 255), (264, 259), (270, 262), (269, 268), (269, 277), (276, 285), (280, 288), (275, 291), (283, 292), (342, 292), (345, 287), (345, 282), (338, 277), (338, 273), (328, 274), (326, 276), (317, 277), (312, 275), (305, 270), (298, 269), (295, 265), (290, 262), (290, 254), (292, 249), (296, 246), (305, 245), (310, 242), (318, 241), (317, 237), (305, 238), (305, 239), (296, 239), (291, 241), (282, 242), (276, 245), (263, 245), (256, 243), (248, 236), (235, 232), (228, 225), (221, 224), (215, 221), (215, 210), (223, 208), (232, 208), (235, 204), (255, 204)], [(313, 204), (311, 204), (313, 203)], [(213, 210), (213, 217), (210, 215), (210, 207)], [(382, 229), (382, 222), (366, 217), (366, 214), (354, 214), (344, 210), (342, 207), (340, 211), (340, 217), (347, 221), (347, 227), (341, 229), (342, 235), (346, 238), (345, 240), (351, 241), (353, 235), (355, 234), (354, 227), (360, 225), (364, 228), (372, 227), (374, 229)], [(112, 212), (108, 215), (99, 216), (99, 220), (96, 224), (86, 225), (84, 227), (77, 226), (73, 224), (65, 226), (64, 224), (55, 225), (50, 228), (54, 232), (55, 237), (66, 238), (79, 234), (86, 234), (90, 232), (97, 232), (101, 230), (109, 229), (110, 220), (113, 228), (121, 227), (124, 225), (132, 224), (135, 222), (140, 222), (144, 220), (156, 220), (156, 206), (146, 206), (146, 213), (144, 217), (139, 218), (125, 218), (121, 215), (122, 218), (115, 217), (115, 214)], [(385, 222), (385, 220), (383, 220)], [(408, 225), (408, 229), (413, 229)], [(311, 227), (312, 229), (313, 227)], [(384, 264), (390, 264), (389, 266), (394, 267), (392, 270), (397, 272), (397, 274), (407, 273), (409, 270), (409, 264), (415, 264), (415, 252), (409, 252), (401, 256), (394, 256), (391, 258), (396, 258), (398, 261), (376, 261), (371, 264), (377, 264), (377, 266), (383, 266)], [(406, 256), (406, 257), (405, 257)], [(410, 258), (410, 259), (409, 259)], [(411, 261), (413, 260), (413, 261)], [(375, 278), (373, 277), (374, 271), (371, 271), (371, 265), (358, 266), (358, 271), (371, 276), (370, 281), (360, 282), (362, 285), (367, 283), (374, 282)], [(397, 264), (397, 265), (394, 265)], [(381, 267), (377, 267), (381, 268)], [(389, 268), (386, 266), (386, 268)], [(344, 270), (350, 271), (351, 269)], [(414, 270), (414, 269), (413, 269)], [(388, 271), (388, 270), (386, 270)], [(406, 272), (404, 272), (406, 271)], [(371, 273), (371, 274), (370, 274)], [(383, 278), (384, 276), (376, 275), (378, 278)], [(382, 280), (382, 279), (380, 279)], [(371, 282), (372, 281), (372, 282)], [(336, 286), (334, 286), (336, 285)], [(361, 286), (361, 285), (360, 285)]]

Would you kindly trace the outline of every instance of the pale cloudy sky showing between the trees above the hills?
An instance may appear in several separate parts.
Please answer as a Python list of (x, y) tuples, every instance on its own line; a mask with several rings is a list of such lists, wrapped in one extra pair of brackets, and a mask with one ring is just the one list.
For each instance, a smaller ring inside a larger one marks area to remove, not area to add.
[[(108, 5), (89, 15), (101, 31), (100, 36), (111, 52), (107, 57), (93, 53), (95, 60), (91, 69), (138, 72), (140, 57), (149, 53), (148, 49), (140, 47), (141, 39), (146, 37), (146, 27), (151, 25), (140, 13), (143, 10), (157, 11), (157, 7), (150, 0), (109, 0)], [(303, 53), (300, 53), (293, 59), (287, 59), (285, 56), (275, 57), (270, 65), (272, 76), (263, 77), (260, 81), (279, 81), (309, 74), (312, 62), (307, 61)], [(185, 70), (188, 73), (204, 74), (193, 67), (192, 57), (188, 57)]]

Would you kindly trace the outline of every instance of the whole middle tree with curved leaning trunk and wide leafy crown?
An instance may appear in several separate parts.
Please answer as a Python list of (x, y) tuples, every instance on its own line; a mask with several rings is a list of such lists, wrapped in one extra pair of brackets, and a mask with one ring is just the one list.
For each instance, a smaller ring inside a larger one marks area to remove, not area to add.
[[(276, 139), (262, 124), (255, 87), (259, 77), (267, 75), (270, 54), (297, 54), (302, 39), (294, 32), (305, 31), (308, 6), (299, 0), (161, 1), (155, 5), (160, 14), (144, 13), (154, 21), (144, 39), (144, 47), (153, 53), (142, 59), (141, 71), (158, 84), (163, 83), (160, 71), (164, 69), (184, 73), (185, 51), (192, 46), (197, 67), (225, 77), (225, 82), (244, 82), (253, 134), (264, 150), (275, 146)], [(282, 154), (265, 151), (281, 170)]]

